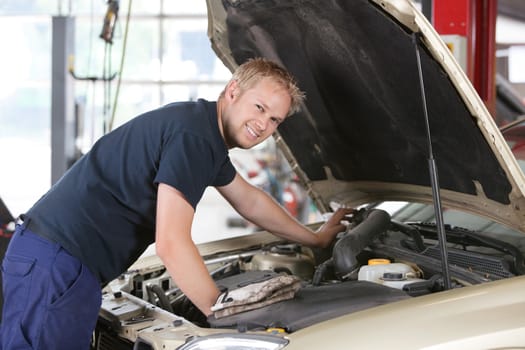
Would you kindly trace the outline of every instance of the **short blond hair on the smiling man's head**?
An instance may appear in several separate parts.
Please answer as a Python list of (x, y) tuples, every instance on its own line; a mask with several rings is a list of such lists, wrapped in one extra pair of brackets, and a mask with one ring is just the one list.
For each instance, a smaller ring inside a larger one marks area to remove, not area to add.
[[(254, 87), (261, 79), (270, 78), (286, 89), (291, 98), (290, 110), (287, 116), (298, 112), (305, 94), (297, 86), (295, 78), (285, 68), (265, 58), (251, 58), (241, 64), (233, 72), (231, 80), (235, 80), (241, 93)], [(224, 91), (220, 97), (224, 96)]]

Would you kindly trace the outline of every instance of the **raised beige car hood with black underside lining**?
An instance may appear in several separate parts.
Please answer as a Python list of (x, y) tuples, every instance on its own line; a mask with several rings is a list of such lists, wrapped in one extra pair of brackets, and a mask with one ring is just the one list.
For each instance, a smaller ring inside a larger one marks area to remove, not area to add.
[(525, 229), (523, 173), (410, 1), (207, 3), (212, 47), (230, 70), (267, 57), (305, 91), (302, 110), (274, 136), (321, 211), (333, 203), (432, 203), (435, 162), (443, 206)]

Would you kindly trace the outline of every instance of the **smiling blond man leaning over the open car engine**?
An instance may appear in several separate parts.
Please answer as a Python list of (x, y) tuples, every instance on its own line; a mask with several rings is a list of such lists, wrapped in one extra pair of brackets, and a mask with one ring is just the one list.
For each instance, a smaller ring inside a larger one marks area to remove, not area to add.
[(154, 241), (181, 290), (206, 315), (219, 290), (191, 239), (207, 186), (259, 227), (327, 246), (344, 229), (339, 210), (314, 233), (247, 183), (228, 149), (267, 139), (303, 94), (275, 63), (241, 65), (218, 101), (173, 103), (103, 136), (26, 214), (3, 261), (4, 349), (86, 349), (100, 284)]

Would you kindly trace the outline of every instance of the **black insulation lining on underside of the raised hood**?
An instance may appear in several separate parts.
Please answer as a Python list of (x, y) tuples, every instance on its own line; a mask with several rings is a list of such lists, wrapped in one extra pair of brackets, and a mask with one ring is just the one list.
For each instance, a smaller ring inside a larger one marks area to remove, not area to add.
[[(279, 133), (310, 180), (430, 186), (416, 55), (408, 28), (366, 0), (223, 1), (241, 64), (267, 57), (306, 92)], [(420, 47), (440, 187), (510, 203), (511, 185), (447, 74)], [(446, 136), (446, 137), (442, 137)]]

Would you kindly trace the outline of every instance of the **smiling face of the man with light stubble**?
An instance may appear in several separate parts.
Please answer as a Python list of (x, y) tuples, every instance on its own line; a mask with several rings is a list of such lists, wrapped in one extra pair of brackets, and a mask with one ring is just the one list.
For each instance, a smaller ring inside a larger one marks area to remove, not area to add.
[(290, 104), (286, 89), (269, 78), (242, 93), (230, 82), (219, 121), (228, 148), (251, 148), (266, 140), (286, 118)]

